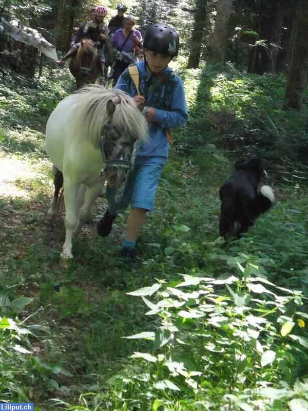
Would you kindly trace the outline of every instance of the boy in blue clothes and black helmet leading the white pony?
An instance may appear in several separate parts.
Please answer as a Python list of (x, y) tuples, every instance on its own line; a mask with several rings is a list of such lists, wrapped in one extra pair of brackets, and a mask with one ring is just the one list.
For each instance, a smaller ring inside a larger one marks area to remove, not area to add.
[(114, 218), (120, 210), (131, 204), (121, 249), (121, 254), (131, 267), (136, 267), (134, 246), (146, 213), (153, 210), (160, 175), (168, 157), (166, 129), (180, 127), (188, 118), (182, 81), (168, 67), (172, 58), (178, 54), (178, 34), (163, 24), (153, 24), (144, 35), (143, 49), (145, 61), (137, 63), (140, 96), (137, 95), (128, 68), (121, 74), (115, 87), (126, 91), (137, 104), (146, 106), (149, 142), (143, 143), (139, 150), (134, 167), (127, 177), (121, 203), (115, 203), (116, 191), (107, 186), (108, 209), (98, 223), (98, 234), (102, 237), (109, 235)]

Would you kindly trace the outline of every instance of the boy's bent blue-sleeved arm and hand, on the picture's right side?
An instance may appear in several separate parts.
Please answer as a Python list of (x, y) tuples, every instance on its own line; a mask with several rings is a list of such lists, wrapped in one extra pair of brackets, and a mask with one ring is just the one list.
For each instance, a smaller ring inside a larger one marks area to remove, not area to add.
[[(146, 104), (146, 103), (145, 103)], [(149, 107), (149, 109), (153, 107)], [(184, 94), (183, 83), (178, 79), (177, 85), (172, 95), (170, 111), (154, 108), (150, 110), (151, 118), (147, 120), (160, 124), (163, 128), (178, 128), (188, 120), (187, 106)]]

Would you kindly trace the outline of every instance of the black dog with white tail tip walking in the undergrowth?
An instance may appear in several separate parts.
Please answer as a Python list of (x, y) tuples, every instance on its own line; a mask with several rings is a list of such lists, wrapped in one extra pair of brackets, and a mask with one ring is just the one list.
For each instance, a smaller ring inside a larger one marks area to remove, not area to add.
[(275, 201), (274, 192), (268, 185), (259, 185), (262, 177), (266, 177), (258, 159), (238, 160), (235, 172), (219, 189), (221, 212), (219, 233), (222, 237), (239, 223), (236, 236), (254, 225), (255, 219), (272, 207)]

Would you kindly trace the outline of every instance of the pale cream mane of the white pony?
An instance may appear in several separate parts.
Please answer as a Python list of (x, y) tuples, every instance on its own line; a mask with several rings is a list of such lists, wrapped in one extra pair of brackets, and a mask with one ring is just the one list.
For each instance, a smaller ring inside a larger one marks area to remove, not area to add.
[(85, 86), (68, 97), (74, 106), (68, 121), (74, 124), (76, 138), (86, 138), (95, 147), (100, 146), (102, 127), (110, 119), (106, 105), (115, 97), (120, 99), (120, 103), (115, 105), (113, 126), (127, 135), (147, 141), (148, 125), (134, 100), (122, 90), (107, 90), (95, 84)]

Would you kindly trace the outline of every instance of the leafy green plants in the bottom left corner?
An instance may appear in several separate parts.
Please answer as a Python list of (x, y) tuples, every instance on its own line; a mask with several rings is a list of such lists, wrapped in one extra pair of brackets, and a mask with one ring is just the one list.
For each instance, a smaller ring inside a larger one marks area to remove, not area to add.
[(48, 328), (27, 323), (41, 308), (23, 321), (17, 316), (13, 319), (3, 314), (3, 311), (24, 313), (24, 308), (32, 301), (33, 298), (25, 296), (10, 301), (6, 294), (0, 294), (0, 402), (27, 402), (29, 393), (38, 384), (44, 384), (45, 390), (67, 390), (59, 386), (53, 377), (60, 373), (71, 374), (59, 364), (50, 365), (35, 356), (37, 348), (33, 342), (43, 335), (46, 343)]

